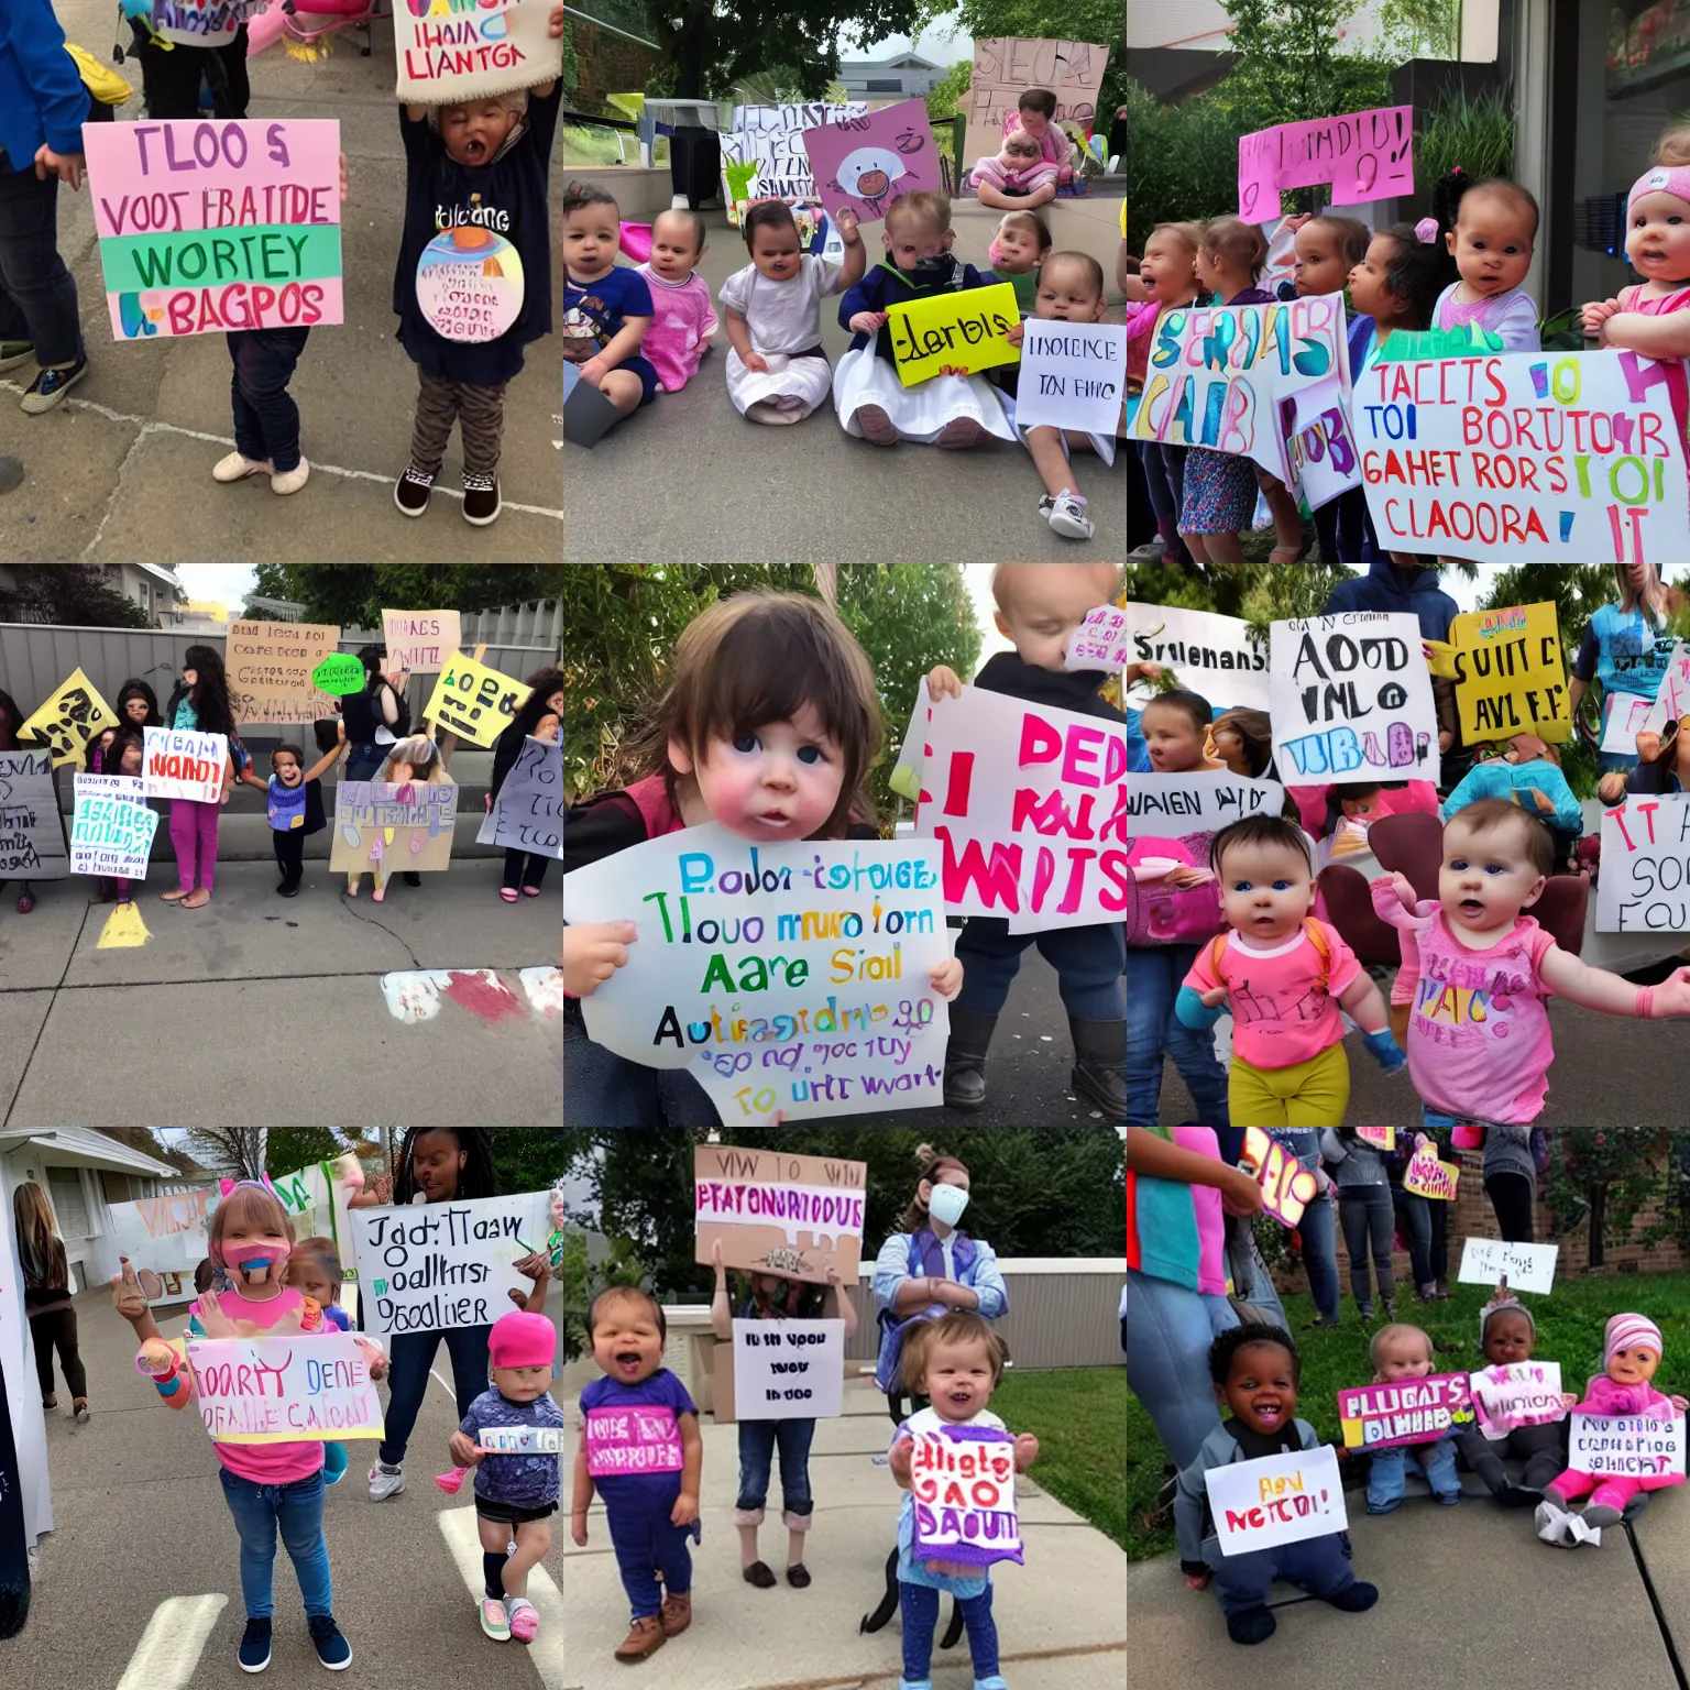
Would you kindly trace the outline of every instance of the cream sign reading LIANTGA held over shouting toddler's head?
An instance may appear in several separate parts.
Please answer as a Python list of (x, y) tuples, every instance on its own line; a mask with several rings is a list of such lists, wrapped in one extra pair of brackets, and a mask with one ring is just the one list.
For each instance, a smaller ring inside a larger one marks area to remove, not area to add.
[(563, 39), (549, 20), (551, 0), (407, 0), (394, 8), (394, 98), (450, 105), (553, 83)]

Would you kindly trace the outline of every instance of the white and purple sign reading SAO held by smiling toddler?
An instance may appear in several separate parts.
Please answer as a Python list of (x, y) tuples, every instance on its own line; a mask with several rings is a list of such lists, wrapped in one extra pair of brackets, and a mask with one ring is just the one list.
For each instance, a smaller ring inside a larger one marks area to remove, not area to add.
[(913, 1431), (911, 1443), (911, 1560), (965, 1567), (1022, 1562), (1014, 1435), (940, 1423)]

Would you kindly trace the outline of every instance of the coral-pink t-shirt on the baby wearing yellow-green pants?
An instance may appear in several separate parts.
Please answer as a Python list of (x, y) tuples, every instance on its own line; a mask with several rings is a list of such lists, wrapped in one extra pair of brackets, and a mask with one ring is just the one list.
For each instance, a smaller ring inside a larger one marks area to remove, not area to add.
[(1322, 960), (1305, 930), (1273, 950), (1247, 948), (1237, 933), (1215, 972), (1213, 945), (1197, 953), (1185, 977), (1193, 992), (1225, 985), (1232, 1007), (1232, 1055), (1252, 1068), (1289, 1068), (1308, 1061), (1344, 1038), (1335, 1002), (1362, 972), (1355, 951), (1338, 938), (1337, 928), (1318, 923), (1330, 953), (1327, 987), (1322, 990)]

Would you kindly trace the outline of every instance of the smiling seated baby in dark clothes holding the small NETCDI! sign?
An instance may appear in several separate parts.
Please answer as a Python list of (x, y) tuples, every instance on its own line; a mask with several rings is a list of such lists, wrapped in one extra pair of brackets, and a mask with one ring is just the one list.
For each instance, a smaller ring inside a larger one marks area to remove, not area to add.
[(1284, 1578), (1344, 1614), (1359, 1614), (1379, 1600), (1379, 1590), (1350, 1570), (1337, 1531), (1246, 1555), (1220, 1553), (1208, 1506), (1210, 1469), (1320, 1448), (1315, 1428), (1296, 1418), (1300, 1374), (1301, 1359), (1283, 1327), (1232, 1327), (1208, 1349), (1208, 1376), (1225, 1418), (1203, 1440), (1197, 1460), (1181, 1470), (1173, 1523), (1185, 1582), (1202, 1590), (1213, 1580), (1234, 1643), (1264, 1643), (1278, 1629), (1268, 1607), (1274, 1578)]

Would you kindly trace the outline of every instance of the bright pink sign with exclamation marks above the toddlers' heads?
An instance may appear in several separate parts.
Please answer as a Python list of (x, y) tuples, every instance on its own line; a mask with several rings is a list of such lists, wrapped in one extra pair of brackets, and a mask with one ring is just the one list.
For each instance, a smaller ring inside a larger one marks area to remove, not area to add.
[(1246, 223), (1273, 221), (1279, 189), (1327, 183), (1335, 206), (1413, 194), (1415, 108), (1374, 106), (1239, 135), (1239, 216)]

